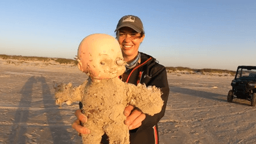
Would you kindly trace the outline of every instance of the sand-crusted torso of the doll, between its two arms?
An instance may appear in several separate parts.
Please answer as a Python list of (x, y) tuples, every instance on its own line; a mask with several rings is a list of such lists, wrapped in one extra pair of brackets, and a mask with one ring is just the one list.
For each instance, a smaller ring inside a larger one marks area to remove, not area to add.
[(120, 79), (104, 79), (91, 82), (84, 90), (83, 113), (88, 119), (100, 121), (124, 120), (124, 109), (128, 103), (125, 83)]

